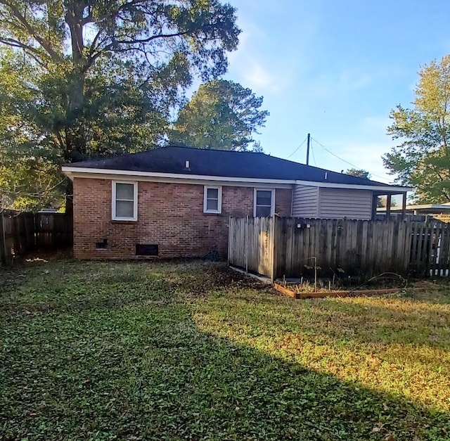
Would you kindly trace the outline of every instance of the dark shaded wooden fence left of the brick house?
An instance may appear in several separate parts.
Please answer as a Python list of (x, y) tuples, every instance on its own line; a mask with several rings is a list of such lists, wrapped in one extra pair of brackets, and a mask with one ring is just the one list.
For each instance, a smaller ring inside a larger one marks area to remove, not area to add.
[(63, 248), (73, 243), (71, 215), (0, 211), (0, 264), (37, 248)]

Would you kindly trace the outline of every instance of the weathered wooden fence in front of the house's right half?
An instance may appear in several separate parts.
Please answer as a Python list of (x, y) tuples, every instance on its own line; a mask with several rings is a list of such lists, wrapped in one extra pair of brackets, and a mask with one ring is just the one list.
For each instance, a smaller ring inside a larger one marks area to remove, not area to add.
[(450, 224), (435, 220), (230, 218), (229, 263), (271, 279), (449, 276)]

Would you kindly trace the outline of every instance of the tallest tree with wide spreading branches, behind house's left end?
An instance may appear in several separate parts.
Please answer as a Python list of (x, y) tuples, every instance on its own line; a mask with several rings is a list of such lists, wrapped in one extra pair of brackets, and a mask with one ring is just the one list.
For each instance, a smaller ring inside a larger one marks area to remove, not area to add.
[(0, 112), (20, 120), (4, 124), (0, 155), (60, 165), (161, 143), (193, 76), (226, 72), (235, 12), (219, 0), (0, 0), (0, 77), (18, 72)]

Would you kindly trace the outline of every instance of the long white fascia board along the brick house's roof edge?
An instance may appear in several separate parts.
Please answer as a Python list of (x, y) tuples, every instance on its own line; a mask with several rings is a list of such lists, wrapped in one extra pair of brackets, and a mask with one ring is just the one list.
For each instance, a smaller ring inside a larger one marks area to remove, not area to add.
[(386, 191), (387, 193), (392, 193), (392, 191), (399, 191), (399, 193), (404, 193), (405, 191), (412, 191), (411, 187), (401, 187), (401, 186), (371, 186), (371, 185), (353, 185), (353, 184), (333, 184), (332, 182), (315, 182), (315, 181), (302, 181), (299, 179), (259, 179), (259, 178), (238, 178), (238, 177), (226, 177), (226, 176), (207, 176), (204, 174), (179, 174), (179, 173), (158, 173), (158, 172), (139, 172), (135, 170), (109, 170), (109, 169), (95, 169), (95, 168), (85, 168), (85, 167), (70, 167), (66, 166), (62, 168), (64, 174), (66, 174), (71, 179), (73, 177), (94, 177), (92, 175), (98, 175), (96, 177), (109, 177), (109, 176), (120, 176), (120, 177), (143, 177), (152, 178), (150, 180), (162, 180), (167, 181), (209, 181), (209, 182), (221, 182), (221, 183), (249, 183), (249, 184), (278, 184), (283, 186), (292, 185), (304, 185), (311, 187), (324, 187), (324, 188), (348, 188), (354, 190), (371, 190), (371, 191)]

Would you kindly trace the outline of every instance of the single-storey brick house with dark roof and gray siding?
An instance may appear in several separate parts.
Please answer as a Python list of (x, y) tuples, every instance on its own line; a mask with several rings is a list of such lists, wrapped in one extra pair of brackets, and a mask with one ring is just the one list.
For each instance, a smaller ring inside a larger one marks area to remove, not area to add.
[(380, 184), (264, 153), (164, 147), (63, 167), (79, 259), (226, 257), (230, 216), (371, 219)]

